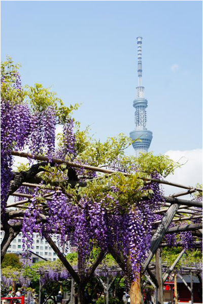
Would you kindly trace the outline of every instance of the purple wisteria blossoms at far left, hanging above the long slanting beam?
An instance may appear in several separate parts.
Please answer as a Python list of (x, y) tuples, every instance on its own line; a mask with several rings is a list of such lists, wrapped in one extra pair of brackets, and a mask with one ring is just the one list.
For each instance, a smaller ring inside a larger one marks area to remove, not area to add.
[[(26, 148), (29, 153), (45, 155), (51, 161), (55, 154), (56, 112), (53, 106), (30, 109), (23, 101), (19, 73), (10, 68), (1, 77), (1, 214), (4, 213), (12, 179), (11, 150)], [(67, 119), (63, 128), (67, 147), (65, 154), (74, 155), (73, 120)]]

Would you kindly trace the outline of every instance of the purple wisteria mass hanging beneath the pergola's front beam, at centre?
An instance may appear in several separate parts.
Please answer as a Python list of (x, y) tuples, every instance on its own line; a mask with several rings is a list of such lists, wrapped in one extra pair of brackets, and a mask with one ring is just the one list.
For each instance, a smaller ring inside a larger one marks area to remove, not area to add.
[[(39, 194), (38, 191), (38, 197), (36, 192), (36, 197), (31, 200), (25, 212), (23, 250), (31, 248), (34, 232), (38, 232), (41, 237), (54, 233), (58, 235), (60, 246), (78, 248), (78, 268), (85, 274), (93, 246), (108, 250), (109, 245), (117, 245), (122, 249), (126, 260), (130, 258), (131, 275), (136, 277), (149, 249), (153, 210), (158, 208), (162, 195), (157, 185), (152, 184), (152, 188), (153, 200), (137, 202), (128, 207), (127, 211), (119, 208), (119, 201), (111, 194), (97, 201), (84, 196), (78, 204), (74, 204), (61, 191), (57, 191), (52, 200), (47, 202), (48, 216), (44, 223), (39, 222), (39, 219), (43, 219), (40, 198), (45, 192), (41, 190)], [(113, 193), (116, 191), (119, 190), (114, 188)], [(114, 202), (113, 213), (108, 212), (109, 200)]]

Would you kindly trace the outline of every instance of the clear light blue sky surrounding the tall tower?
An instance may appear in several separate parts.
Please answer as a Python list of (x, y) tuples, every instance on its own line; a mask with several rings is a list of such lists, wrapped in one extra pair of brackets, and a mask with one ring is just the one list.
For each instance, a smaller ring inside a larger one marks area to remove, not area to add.
[(150, 150), (201, 148), (201, 1), (1, 2), (1, 60), (22, 64), (23, 84), (82, 103), (76, 120), (101, 140), (134, 128), (139, 35)]

